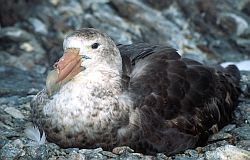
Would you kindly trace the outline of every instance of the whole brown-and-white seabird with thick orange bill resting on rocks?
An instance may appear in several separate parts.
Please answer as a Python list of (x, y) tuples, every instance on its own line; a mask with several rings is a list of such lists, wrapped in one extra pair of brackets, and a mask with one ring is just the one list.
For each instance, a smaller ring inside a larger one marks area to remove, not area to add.
[(117, 45), (94, 28), (69, 33), (63, 49), (31, 102), (34, 125), (62, 148), (173, 155), (206, 143), (238, 104), (234, 65), (205, 65), (168, 45)]

